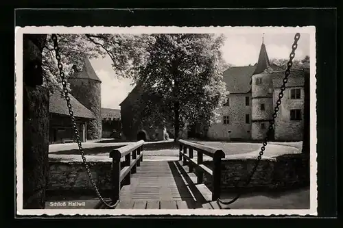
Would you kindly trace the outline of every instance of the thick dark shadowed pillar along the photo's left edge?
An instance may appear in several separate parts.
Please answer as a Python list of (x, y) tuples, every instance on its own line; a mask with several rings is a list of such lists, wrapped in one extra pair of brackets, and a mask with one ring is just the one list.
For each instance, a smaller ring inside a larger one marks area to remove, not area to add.
[[(49, 175), (49, 91), (41, 86), (46, 35), (23, 36), (23, 208), (43, 209)], [(21, 181), (21, 179), (18, 179)]]

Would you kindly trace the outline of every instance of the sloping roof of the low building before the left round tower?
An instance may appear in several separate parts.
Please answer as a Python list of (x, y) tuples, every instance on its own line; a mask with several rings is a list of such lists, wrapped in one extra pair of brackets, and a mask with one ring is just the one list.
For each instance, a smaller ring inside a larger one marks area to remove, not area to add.
[[(71, 94), (69, 94), (69, 97), (74, 116), (82, 118), (95, 118), (93, 112), (84, 107), (84, 105), (75, 99), (75, 97), (73, 97)], [(50, 94), (49, 112), (69, 116), (67, 101), (61, 96), (61, 92), (56, 91)]]

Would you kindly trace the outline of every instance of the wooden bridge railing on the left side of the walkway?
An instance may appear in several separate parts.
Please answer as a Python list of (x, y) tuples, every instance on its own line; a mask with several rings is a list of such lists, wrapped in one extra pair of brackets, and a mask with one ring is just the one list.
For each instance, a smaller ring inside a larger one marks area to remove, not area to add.
[[(136, 173), (137, 166), (141, 165), (143, 161), (143, 144), (144, 141), (140, 140), (110, 151), (110, 157), (112, 158), (113, 201), (119, 199), (121, 186), (130, 184), (131, 174)], [(125, 160), (121, 162), (123, 157), (125, 157)]]

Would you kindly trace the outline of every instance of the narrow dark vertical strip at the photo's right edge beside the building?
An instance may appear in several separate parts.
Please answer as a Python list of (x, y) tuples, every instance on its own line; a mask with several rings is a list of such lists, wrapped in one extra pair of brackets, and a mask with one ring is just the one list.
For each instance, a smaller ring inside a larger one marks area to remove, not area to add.
[(303, 153), (309, 155), (310, 134), (310, 107), (309, 107), (309, 71), (305, 70), (304, 85), (304, 131), (303, 131)]

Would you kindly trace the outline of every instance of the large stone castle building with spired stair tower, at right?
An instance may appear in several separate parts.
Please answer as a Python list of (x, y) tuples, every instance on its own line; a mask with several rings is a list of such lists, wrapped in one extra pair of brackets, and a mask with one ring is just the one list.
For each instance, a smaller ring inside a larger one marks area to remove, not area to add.
[[(285, 67), (270, 64), (264, 43), (254, 66), (233, 66), (223, 79), (230, 92), (220, 123), (209, 127), (213, 140), (263, 140), (279, 98)], [(309, 69), (292, 69), (270, 140), (303, 140), (304, 83)]]

